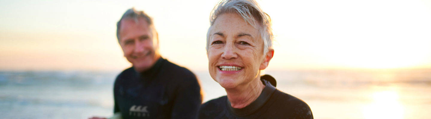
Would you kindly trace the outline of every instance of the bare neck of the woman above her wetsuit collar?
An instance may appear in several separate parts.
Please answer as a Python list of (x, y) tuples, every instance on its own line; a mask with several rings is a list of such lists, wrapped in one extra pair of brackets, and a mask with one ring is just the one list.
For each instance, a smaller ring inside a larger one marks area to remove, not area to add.
[(264, 87), (265, 85), (258, 77), (245, 85), (225, 90), (232, 107), (244, 108), (259, 97)]

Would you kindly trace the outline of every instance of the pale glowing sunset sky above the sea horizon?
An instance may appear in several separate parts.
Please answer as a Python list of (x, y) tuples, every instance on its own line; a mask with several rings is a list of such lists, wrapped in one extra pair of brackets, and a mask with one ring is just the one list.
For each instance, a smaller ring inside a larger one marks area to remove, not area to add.
[[(122, 70), (129, 8), (150, 15), (162, 57), (207, 70), (218, 0), (0, 0), (0, 70)], [(431, 68), (431, 0), (257, 0), (272, 18), (269, 70)]]

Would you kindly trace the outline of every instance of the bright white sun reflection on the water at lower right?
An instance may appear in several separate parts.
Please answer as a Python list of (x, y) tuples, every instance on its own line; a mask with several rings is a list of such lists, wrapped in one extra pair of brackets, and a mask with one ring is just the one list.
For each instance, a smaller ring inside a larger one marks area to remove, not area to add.
[(404, 119), (404, 107), (396, 91), (374, 92), (372, 99), (362, 109), (365, 119)]

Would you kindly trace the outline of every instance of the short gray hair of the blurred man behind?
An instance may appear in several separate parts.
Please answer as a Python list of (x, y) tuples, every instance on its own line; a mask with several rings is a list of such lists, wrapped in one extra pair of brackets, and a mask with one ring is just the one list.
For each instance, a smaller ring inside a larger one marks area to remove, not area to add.
[(134, 19), (135, 22), (138, 21), (138, 18), (144, 18), (145, 21), (147, 21), (148, 24), (148, 29), (150, 30), (150, 32), (153, 33), (153, 37), (158, 38), (157, 32), (156, 32), (156, 28), (153, 25), (153, 20), (151, 19), (150, 16), (148, 16), (147, 14), (144, 13), (144, 11), (137, 11), (134, 8), (128, 9), (123, 16), (121, 17), (121, 19), (117, 22), (117, 39), (118, 42), (120, 42), (120, 28), (121, 28), (121, 21), (125, 20), (125, 19)]

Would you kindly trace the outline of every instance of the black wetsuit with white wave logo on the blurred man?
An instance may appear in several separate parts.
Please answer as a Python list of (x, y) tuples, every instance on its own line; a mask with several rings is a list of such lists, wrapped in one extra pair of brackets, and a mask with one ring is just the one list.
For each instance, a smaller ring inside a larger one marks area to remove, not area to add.
[(196, 76), (186, 68), (160, 58), (147, 71), (133, 67), (114, 83), (114, 113), (123, 119), (191, 119), (202, 103)]

